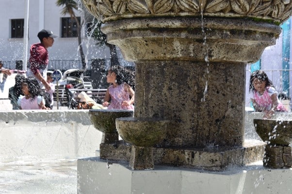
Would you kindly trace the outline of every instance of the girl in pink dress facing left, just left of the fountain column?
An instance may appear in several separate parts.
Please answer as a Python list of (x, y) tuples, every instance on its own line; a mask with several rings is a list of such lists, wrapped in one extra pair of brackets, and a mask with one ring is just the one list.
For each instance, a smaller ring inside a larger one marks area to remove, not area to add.
[(123, 82), (120, 67), (116, 66), (108, 71), (107, 82), (112, 85), (106, 91), (102, 105), (108, 107), (109, 110), (134, 110), (135, 92), (129, 84)]

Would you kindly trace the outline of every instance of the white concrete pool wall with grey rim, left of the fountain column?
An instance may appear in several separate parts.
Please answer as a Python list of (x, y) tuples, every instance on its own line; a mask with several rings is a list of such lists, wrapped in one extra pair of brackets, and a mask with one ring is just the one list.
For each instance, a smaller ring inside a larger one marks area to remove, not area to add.
[(88, 110), (0, 112), (0, 162), (95, 156), (101, 132)]

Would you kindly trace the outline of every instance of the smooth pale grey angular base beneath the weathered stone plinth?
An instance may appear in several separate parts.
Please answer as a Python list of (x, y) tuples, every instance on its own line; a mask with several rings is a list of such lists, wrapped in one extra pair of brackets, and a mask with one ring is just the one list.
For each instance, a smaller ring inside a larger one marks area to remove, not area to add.
[(291, 194), (292, 169), (262, 164), (211, 172), (156, 166), (130, 170), (128, 164), (98, 157), (79, 159), (78, 194)]

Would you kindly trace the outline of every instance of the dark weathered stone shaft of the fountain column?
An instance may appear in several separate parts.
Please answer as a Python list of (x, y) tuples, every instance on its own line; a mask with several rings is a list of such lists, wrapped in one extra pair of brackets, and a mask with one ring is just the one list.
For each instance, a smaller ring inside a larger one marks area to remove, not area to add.
[[(209, 74), (205, 73), (207, 68)], [(170, 120), (162, 147), (242, 145), (244, 93), (239, 90), (245, 84), (244, 69), (241, 64), (207, 67), (203, 62), (139, 62), (135, 116)], [(208, 77), (208, 93), (202, 101), (204, 75)]]

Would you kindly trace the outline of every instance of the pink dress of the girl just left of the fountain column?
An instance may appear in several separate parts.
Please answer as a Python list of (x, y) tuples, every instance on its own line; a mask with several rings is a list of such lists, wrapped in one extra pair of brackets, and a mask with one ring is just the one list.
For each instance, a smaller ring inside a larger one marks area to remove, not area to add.
[(134, 110), (133, 104), (130, 106), (122, 106), (123, 101), (130, 101), (130, 93), (125, 91), (125, 85), (117, 85), (109, 87), (109, 93), (111, 96), (111, 104), (108, 106), (108, 109), (124, 109), (124, 110)]

